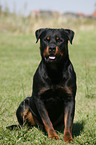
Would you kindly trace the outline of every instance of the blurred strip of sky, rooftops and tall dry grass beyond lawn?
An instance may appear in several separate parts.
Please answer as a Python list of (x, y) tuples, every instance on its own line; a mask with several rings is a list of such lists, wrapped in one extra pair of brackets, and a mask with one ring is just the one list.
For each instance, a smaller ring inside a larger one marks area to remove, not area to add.
[(41, 27), (96, 29), (96, 0), (0, 0), (0, 32), (32, 33)]

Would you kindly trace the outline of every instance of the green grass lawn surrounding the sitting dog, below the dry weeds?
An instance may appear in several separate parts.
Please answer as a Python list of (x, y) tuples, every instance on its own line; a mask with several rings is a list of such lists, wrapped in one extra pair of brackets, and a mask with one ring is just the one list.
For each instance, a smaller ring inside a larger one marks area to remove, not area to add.
[[(71, 61), (77, 74), (76, 112), (73, 125), (73, 145), (96, 144), (96, 31), (76, 32), (69, 44)], [(39, 128), (23, 127), (7, 130), (17, 124), (16, 109), (31, 95), (33, 74), (40, 62), (39, 44), (34, 35), (0, 34), (0, 144), (61, 145), (48, 139)]]

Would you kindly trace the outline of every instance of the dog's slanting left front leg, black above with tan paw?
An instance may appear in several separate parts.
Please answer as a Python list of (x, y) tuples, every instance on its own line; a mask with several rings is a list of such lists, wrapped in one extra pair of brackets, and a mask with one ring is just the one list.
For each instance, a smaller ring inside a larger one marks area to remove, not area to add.
[(40, 99), (36, 99), (36, 107), (38, 109), (38, 112), (40, 114), (40, 117), (42, 119), (42, 122), (45, 126), (45, 129), (48, 133), (48, 137), (49, 138), (53, 138), (53, 139), (56, 139), (56, 140), (59, 140), (60, 137), (57, 135), (57, 133), (55, 132), (54, 128), (53, 128), (53, 125), (52, 125), (52, 122), (48, 116), (48, 112), (45, 108), (45, 105), (44, 103), (42, 102), (42, 100)]

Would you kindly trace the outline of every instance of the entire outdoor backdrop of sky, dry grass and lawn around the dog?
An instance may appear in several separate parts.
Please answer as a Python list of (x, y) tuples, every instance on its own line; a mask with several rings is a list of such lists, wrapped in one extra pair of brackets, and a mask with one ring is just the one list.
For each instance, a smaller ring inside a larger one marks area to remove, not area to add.
[(15, 112), (31, 96), (33, 74), (41, 60), (35, 30), (69, 28), (75, 32), (69, 56), (77, 75), (72, 145), (96, 144), (96, 0), (0, 0), (0, 144), (53, 145), (33, 128), (17, 124)]

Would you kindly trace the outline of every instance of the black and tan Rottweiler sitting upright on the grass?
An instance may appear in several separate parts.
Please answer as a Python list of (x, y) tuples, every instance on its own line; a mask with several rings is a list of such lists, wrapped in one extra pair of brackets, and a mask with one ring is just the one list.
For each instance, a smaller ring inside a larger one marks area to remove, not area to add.
[(76, 75), (68, 54), (74, 32), (69, 29), (39, 29), (42, 60), (33, 78), (33, 93), (18, 107), (20, 125), (44, 125), (49, 138), (60, 139), (55, 126), (64, 124), (64, 141), (73, 141)]

